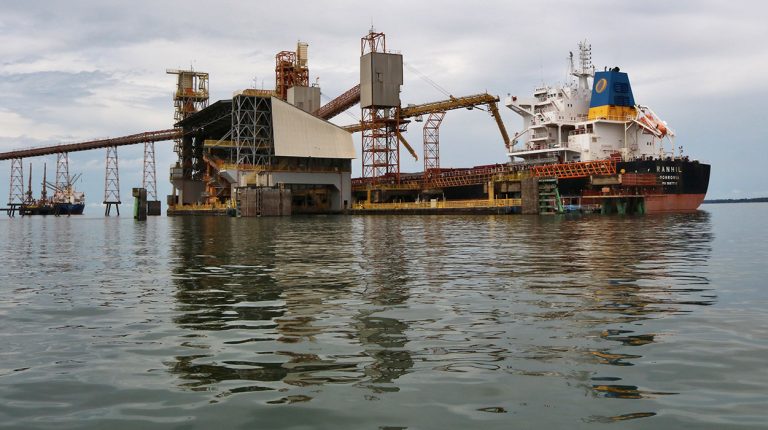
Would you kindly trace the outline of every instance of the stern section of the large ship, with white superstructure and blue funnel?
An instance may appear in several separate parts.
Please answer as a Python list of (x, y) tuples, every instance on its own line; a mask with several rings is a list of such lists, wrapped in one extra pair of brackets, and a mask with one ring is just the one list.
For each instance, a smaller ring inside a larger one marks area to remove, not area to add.
[(618, 67), (596, 72), (591, 51), (579, 43), (578, 66), (570, 55), (577, 81), (538, 87), (532, 98), (507, 98), (524, 122), (510, 163), (556, 177), (565, 201), (599, 203), (603, 211), (696, 210), (710, 166), (683, 155), (667, 123), (635, 103), (626, 73)]

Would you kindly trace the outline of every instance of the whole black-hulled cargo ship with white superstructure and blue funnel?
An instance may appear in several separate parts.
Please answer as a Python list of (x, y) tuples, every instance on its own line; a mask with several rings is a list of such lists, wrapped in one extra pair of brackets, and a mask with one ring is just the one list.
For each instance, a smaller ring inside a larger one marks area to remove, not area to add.
[(683, 154), (675, 133), (650, 107), (636, 104), (618, 67), (595, 71), (591, 46), (579, 43), (575, 78), (540, 86), (505, 105), (523, 119), (507, 146), (509, 161), (353, 180), (358, 213), (695, 211), (710, 166)]

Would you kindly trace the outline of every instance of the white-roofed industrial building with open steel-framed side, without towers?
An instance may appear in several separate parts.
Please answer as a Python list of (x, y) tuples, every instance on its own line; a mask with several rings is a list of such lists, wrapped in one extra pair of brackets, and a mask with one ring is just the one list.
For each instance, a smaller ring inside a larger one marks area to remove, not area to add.
[(171, 169), (169, 205), (234, 207), (247, 189), (272, 189), (290, 199), (288, 213), (348, 208), (352, 135), (298, 107), (313, 111), (319, 104), (312, 89), (292, 92), (296, 105), (271, 92), (244, 90), (180, 121), (184, 137)]

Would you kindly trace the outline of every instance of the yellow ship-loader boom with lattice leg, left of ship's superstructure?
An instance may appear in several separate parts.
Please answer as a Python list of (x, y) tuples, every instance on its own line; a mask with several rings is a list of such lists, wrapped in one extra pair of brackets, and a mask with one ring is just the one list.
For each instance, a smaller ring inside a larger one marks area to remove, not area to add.
[[(501, 120), (501, 115), (499, 115), (499, 108), (497, 103), (499, 102), (499, 98), (497, 96), (488, 94), (488, 93), (481, 93), (481, 94), (474, 94), (471, 96), (463, 96), (463, 97), (453, 97), (450, 96), (447, 100), (440, 100), (436, 102), (430, 102), (430, 103), (424, 103), (419, 105), (410, 105), (406, 107), (401, 107), (399, 112), (399, 120), (407, 123), (408, 119), (410, 118), (419, 118), (422, 115), (431, 115), (430, 120), (427, 121), (427, 125), (431, 127), (430, 132), (430, 142), (425, 141), (425, 172), (432, 168), (439, 168), (440, 162), (439, 159), (437, 159), (437, 154), (439, 154), (439, 148), (438, 148), (438, 141), (436, 139), (436, 131), (437, 128), (440, 126), (440, 122), (442, 122), (442, 115), (445, 115), (445, 112), (449, 110), (455, 110), (455, 109), (472, 109), (474, 107), (479, 106), (488, 106), (488, 111), (491, 113), (493, 118), (496, 120), (496, 124), (499, 127), (499, 131), (501, 132), (501, 137), (504, 140), (504, 145), (509, 148), (510, 146), (510, 139), (509, 135), (507, 134), (507, 129), (504, 126), (504, 123)], [(442, 115), (440, 115), (442, 113)], [(439, 121), (437, 119), (439, 118)], [(364, 126), (362, 123), (359, 124), (352, 124), (347, 125), (343, 127), (344, 130), (347, 130), (350, 133), (356, 133), (363, 131)], [(408, 144), (408, 142), (403, 138), (400, 131), (397, 131), (397, 138), (400, 140), (400, 143), (402, 143), (405, 148), (408, 150), (408, 152), (418, 160), (418, 156), (416, 155), (416, 151), (413, 150), (413, 147)], [(427, 137), (427, 132), (425, 131), (425, 138)], [(428, 163), (429, 161), (429, 163)]]

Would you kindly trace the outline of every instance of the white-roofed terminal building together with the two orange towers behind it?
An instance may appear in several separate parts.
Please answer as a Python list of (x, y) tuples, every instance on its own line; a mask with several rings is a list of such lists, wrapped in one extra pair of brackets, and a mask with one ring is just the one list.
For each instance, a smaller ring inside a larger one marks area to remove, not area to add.
[[(181, 107), (179, 161), (171, 167), (169, 215), (241, 216), (341, 212), (350, 206), (352, 135), (316, 116), (308, 44), (276, 57), (275, 90), (245, 89), (200, 110)], [(179, 97), (196, 97), (178, 71)], [(186, 109), (186, 110), (184, 110)]]

